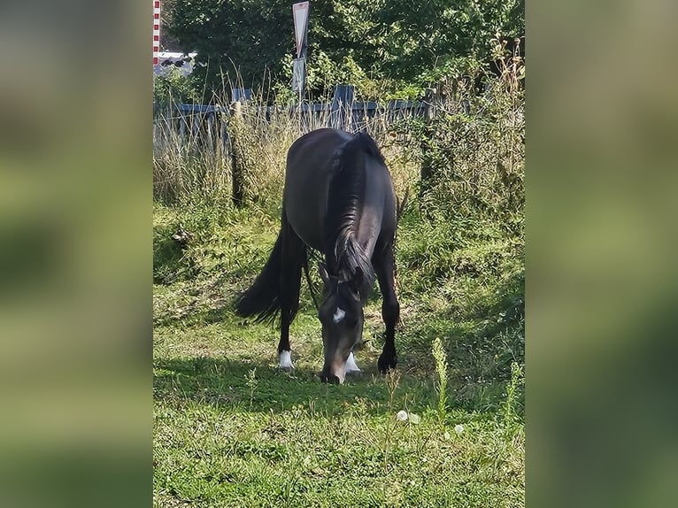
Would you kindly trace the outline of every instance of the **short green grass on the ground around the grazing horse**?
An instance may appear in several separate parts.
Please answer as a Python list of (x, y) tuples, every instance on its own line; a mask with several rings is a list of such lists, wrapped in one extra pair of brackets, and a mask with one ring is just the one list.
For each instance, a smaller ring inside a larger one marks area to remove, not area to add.
[[(406, 212), (397, 374), (377, 373), (376, 291), (363, 373), (327, 385), (305, 282), (291, 373), (277, 369), (277, 330), (230, 307), (266, 261), (276, 214), (156, 205), (154, 505), (524, 506), (520, 250), (491, 235), (445, 248), (444, 228)], [(183, 250), (169, 240), (179, 226), (195, 234)]]

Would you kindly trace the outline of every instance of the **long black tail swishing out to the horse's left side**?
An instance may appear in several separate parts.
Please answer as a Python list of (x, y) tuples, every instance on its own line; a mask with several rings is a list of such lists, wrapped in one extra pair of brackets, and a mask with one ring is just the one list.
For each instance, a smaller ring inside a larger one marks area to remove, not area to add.
[(274, 250), (268, 256), (266, 266), (258, 274), (250, 289), (235, 299), (235, 312), (245, 317), (257, 316), (258, 321), (275, 319), (281, 309), (280, 280), (282, 269), (282, 236), (278, 234)]

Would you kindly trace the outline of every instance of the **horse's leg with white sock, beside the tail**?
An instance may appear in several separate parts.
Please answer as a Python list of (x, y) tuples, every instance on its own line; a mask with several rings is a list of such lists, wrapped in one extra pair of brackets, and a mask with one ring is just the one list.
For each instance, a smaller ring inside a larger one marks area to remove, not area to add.
[(289, 325), (299, 309), (299, 287), (301, 269), (306, 256), (306, 246), (289, 226), (285, 212), (282, 212), (282, 262), (280, 279), (281, 304), (281, 340), (278, 343), (280, 368), (293, 369), (291, 348), (289, 346)]

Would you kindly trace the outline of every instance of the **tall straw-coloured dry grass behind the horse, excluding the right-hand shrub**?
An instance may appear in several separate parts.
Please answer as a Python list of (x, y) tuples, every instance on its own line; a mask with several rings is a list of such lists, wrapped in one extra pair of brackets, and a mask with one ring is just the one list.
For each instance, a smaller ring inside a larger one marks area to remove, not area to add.
[[(240, 104), (215, 104), (211, 115), (160, 112), (153, 128), (154, 196), (165, 204), (229, 203), (234, 160), (243, 175), (244, 201), (280, 199), (289, 146), (300, 135), (331, 123), (329, 106), (309, 114), (291, 106), (266, 106), (261, 97)], [(212, 118), (210, 118), (212, 117)], [(412, 185), (417, 169), (407, 150), (394, 142), (394, 113), (379, 112), (358, 127), (381, 146), (399, 194)], [(350, 129), (348, 125), (347, 130)]]

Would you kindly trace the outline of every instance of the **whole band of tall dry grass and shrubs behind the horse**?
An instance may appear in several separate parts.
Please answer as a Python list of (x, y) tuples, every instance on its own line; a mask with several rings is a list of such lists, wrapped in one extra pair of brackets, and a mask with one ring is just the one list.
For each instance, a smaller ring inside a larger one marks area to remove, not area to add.
[[(514, 56), (520, 62), (520, 56)], [(435, 98), (435, 117), (381, 107), (359, 125), (384, 154), (398, 196), (410, 191), (420, 210), (520, 222), (524, 201), (524, 65), (505, 65), (476, 96), (469, 87)], [(244, 204), (280, 202), (285, 159), (300, 135), (331, 123), (329, 104), (313, 114), (270, 104), (270, 92), (249, 101), (212, 101), (215, 112), (166, 109), (154, 121), (154, 195), (166, 204), (220, 204), (234, 198), (234, 161)], [(235, 106), (238, 106), (237, 108)], [(426, 171), (424, 169), (426, 168)], [(428, 173), (426, 173), (428, 172)], [(414, 192), (412, 192), (414, 191)], [(268, 208), (268, 205), (266, 205)], [(520, 216), (520, 217), (519, 217)], [(520, 228), (520, 227), (519, 227)]]

